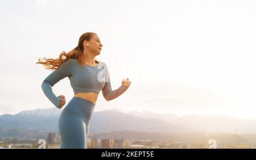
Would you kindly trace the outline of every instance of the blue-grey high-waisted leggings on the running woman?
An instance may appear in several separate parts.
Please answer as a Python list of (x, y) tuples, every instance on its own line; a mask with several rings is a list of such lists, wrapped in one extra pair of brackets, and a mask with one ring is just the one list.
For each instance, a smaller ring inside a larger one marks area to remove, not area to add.
[(86, 148), (93, 102), (73, 97), (59, 118), (60, 148)]

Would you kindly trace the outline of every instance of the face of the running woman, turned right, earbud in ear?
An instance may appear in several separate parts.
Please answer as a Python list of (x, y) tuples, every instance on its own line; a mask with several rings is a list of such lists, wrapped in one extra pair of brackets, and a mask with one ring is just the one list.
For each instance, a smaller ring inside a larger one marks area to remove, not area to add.
[(102, 46), (103, 45), (101, 44), (100, 37), (98, 37), (97, 34), (93, 34), (92, 38), (90, 38), (90, 41), (84, 41), (84, 47), (93, 53), (96, 53), (97, 55), (101, 53)]

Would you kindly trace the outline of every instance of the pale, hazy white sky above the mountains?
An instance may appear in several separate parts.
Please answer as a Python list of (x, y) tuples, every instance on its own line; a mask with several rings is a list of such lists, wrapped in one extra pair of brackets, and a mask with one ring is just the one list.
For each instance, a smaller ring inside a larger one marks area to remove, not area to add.
[[(41, 88), (52, 71), (35, 63), (95, 32), (112, 89), (131, 80), (115, 100), (100, 92), (95, 111), (255, 119), (255, 7), (245, 0), (0, 0), (0, 115), (55, 107)], [(67, 105), (68, 77), (53, 92)]]

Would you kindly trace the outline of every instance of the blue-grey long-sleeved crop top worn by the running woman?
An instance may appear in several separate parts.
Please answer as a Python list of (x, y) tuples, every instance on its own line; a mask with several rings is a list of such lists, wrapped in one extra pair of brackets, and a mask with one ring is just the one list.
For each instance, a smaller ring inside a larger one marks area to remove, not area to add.
[(105, 100), (110, 101), (117, 98), (127, 90), (128, 87), (121, 85), (118, 89), (112, 90), (108, 67), (104, 62), (99, 62), (96, 67), (83, 65), (77, 59), (69, 59), (50, 73), (41, 85), (46, 97), (60, 109), (60, 96), (52, 91), (53, 85), (65, 77), (69, 78), (74, 93), (93, 92), (102, 94)]

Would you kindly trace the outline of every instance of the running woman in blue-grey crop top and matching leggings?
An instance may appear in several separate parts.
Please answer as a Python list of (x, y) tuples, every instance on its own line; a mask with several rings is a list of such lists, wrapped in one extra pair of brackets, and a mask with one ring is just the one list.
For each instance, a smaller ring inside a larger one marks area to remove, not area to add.
[(97, 34), (86, 32), (80, 36), (77, 47), (69, 53), (63, 51), (59, 59), (44, 58), (43, 62), (39, 58), (36, 62), (55, 70), (44, 79), (42, 89), (57, 108), (61, 109), (66, 101), (63, 95), (55, 96), (53, 85), (68, 77), (75, 93), (59, 118), (60, 148), (86, 148), (90, 118), (100, 91), (105, 100), (110, 101), (130, 87), (131, 81), (127, 78), (122, 80), (121, 87), (112, 90), (108, 67), (95, 58), (101, 49)]

